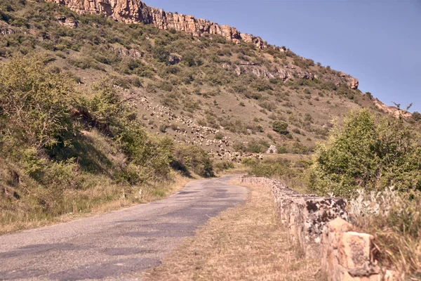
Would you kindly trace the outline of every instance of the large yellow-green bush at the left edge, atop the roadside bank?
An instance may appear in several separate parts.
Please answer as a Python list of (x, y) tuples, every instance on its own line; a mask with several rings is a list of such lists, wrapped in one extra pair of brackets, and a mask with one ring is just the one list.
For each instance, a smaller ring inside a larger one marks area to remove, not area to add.
[(68, 144), (78, 94), (63, 74), (48, 72), (46, 55), (13, 58), (0, 69), (0, 133), (36, 148)]

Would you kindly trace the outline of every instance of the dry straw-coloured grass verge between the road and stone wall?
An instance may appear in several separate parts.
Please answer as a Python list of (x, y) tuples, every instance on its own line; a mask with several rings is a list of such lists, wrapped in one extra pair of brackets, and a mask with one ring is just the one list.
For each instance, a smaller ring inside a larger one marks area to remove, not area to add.
[(318, 280), (319, 262), (277, 225), (269, 189), (249, 188), (246, 204), (211, 218), (145, 280)]

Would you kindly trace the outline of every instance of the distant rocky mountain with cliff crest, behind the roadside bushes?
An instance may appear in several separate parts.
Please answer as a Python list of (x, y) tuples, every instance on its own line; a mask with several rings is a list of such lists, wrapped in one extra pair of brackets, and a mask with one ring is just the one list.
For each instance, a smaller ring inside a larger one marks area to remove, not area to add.
[(220, 158), (270, 145), (307, 153), (352, 108), (397, 112), (349, 74), (234, 27), (138, 0), (46, 2), (0, 1), (3, 60), (43, 51), (80, 89), (107, 79), (149, 131)]

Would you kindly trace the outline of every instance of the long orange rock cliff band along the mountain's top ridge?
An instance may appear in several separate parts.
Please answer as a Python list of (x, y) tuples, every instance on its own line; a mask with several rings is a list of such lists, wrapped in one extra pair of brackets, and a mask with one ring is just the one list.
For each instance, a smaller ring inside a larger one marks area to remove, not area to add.
[[(139, 0), (47, 0), (65, 5), (76, 13), (101, 13), (115, 20), (153, 24), (161, 30), (177, 30), (194, 36), (202, 34), (221, 35), (239, 44), (241, 41), (253, 43), (258, 48), (267, 48), (267, 42), (260, 37), (244, 34), (234, 27), (218, 25), (209, 20), (194, 18), (192, 15), (167, 13), (159, 8), (147, 6)], [(283, 51), (281, 49), (281, 51)]]

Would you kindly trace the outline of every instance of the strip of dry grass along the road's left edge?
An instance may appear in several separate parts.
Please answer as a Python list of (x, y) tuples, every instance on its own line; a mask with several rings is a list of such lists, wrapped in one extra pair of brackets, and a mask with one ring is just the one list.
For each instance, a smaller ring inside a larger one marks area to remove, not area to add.
[[(13, 214), (0, 211), (0, 235), (18, 230), (50, 226), (55, 223), (66, 223), (79, 218), (105, 214), (108, 211), (127, 208), (136, 204), (144, 204), (161, 200), (173, 192), (183, 188), (186, 183), (195, 178), (185, 178), (179, 174), (173, 176), (173, 181), (133, 187), (132, 192), (116, 188), (116, 185), (98, 185), (88, 190), (69, 190), (65, 197), (66, 204), (73, 204), (74, 210), (62, 216), (46, 216), (39, 214)], [(140, 190), (142, 190), (141, 193)], [(77, 211), (77, 210), (80, 211)], [(82, 211), (83, 210), (83, 211)]]

